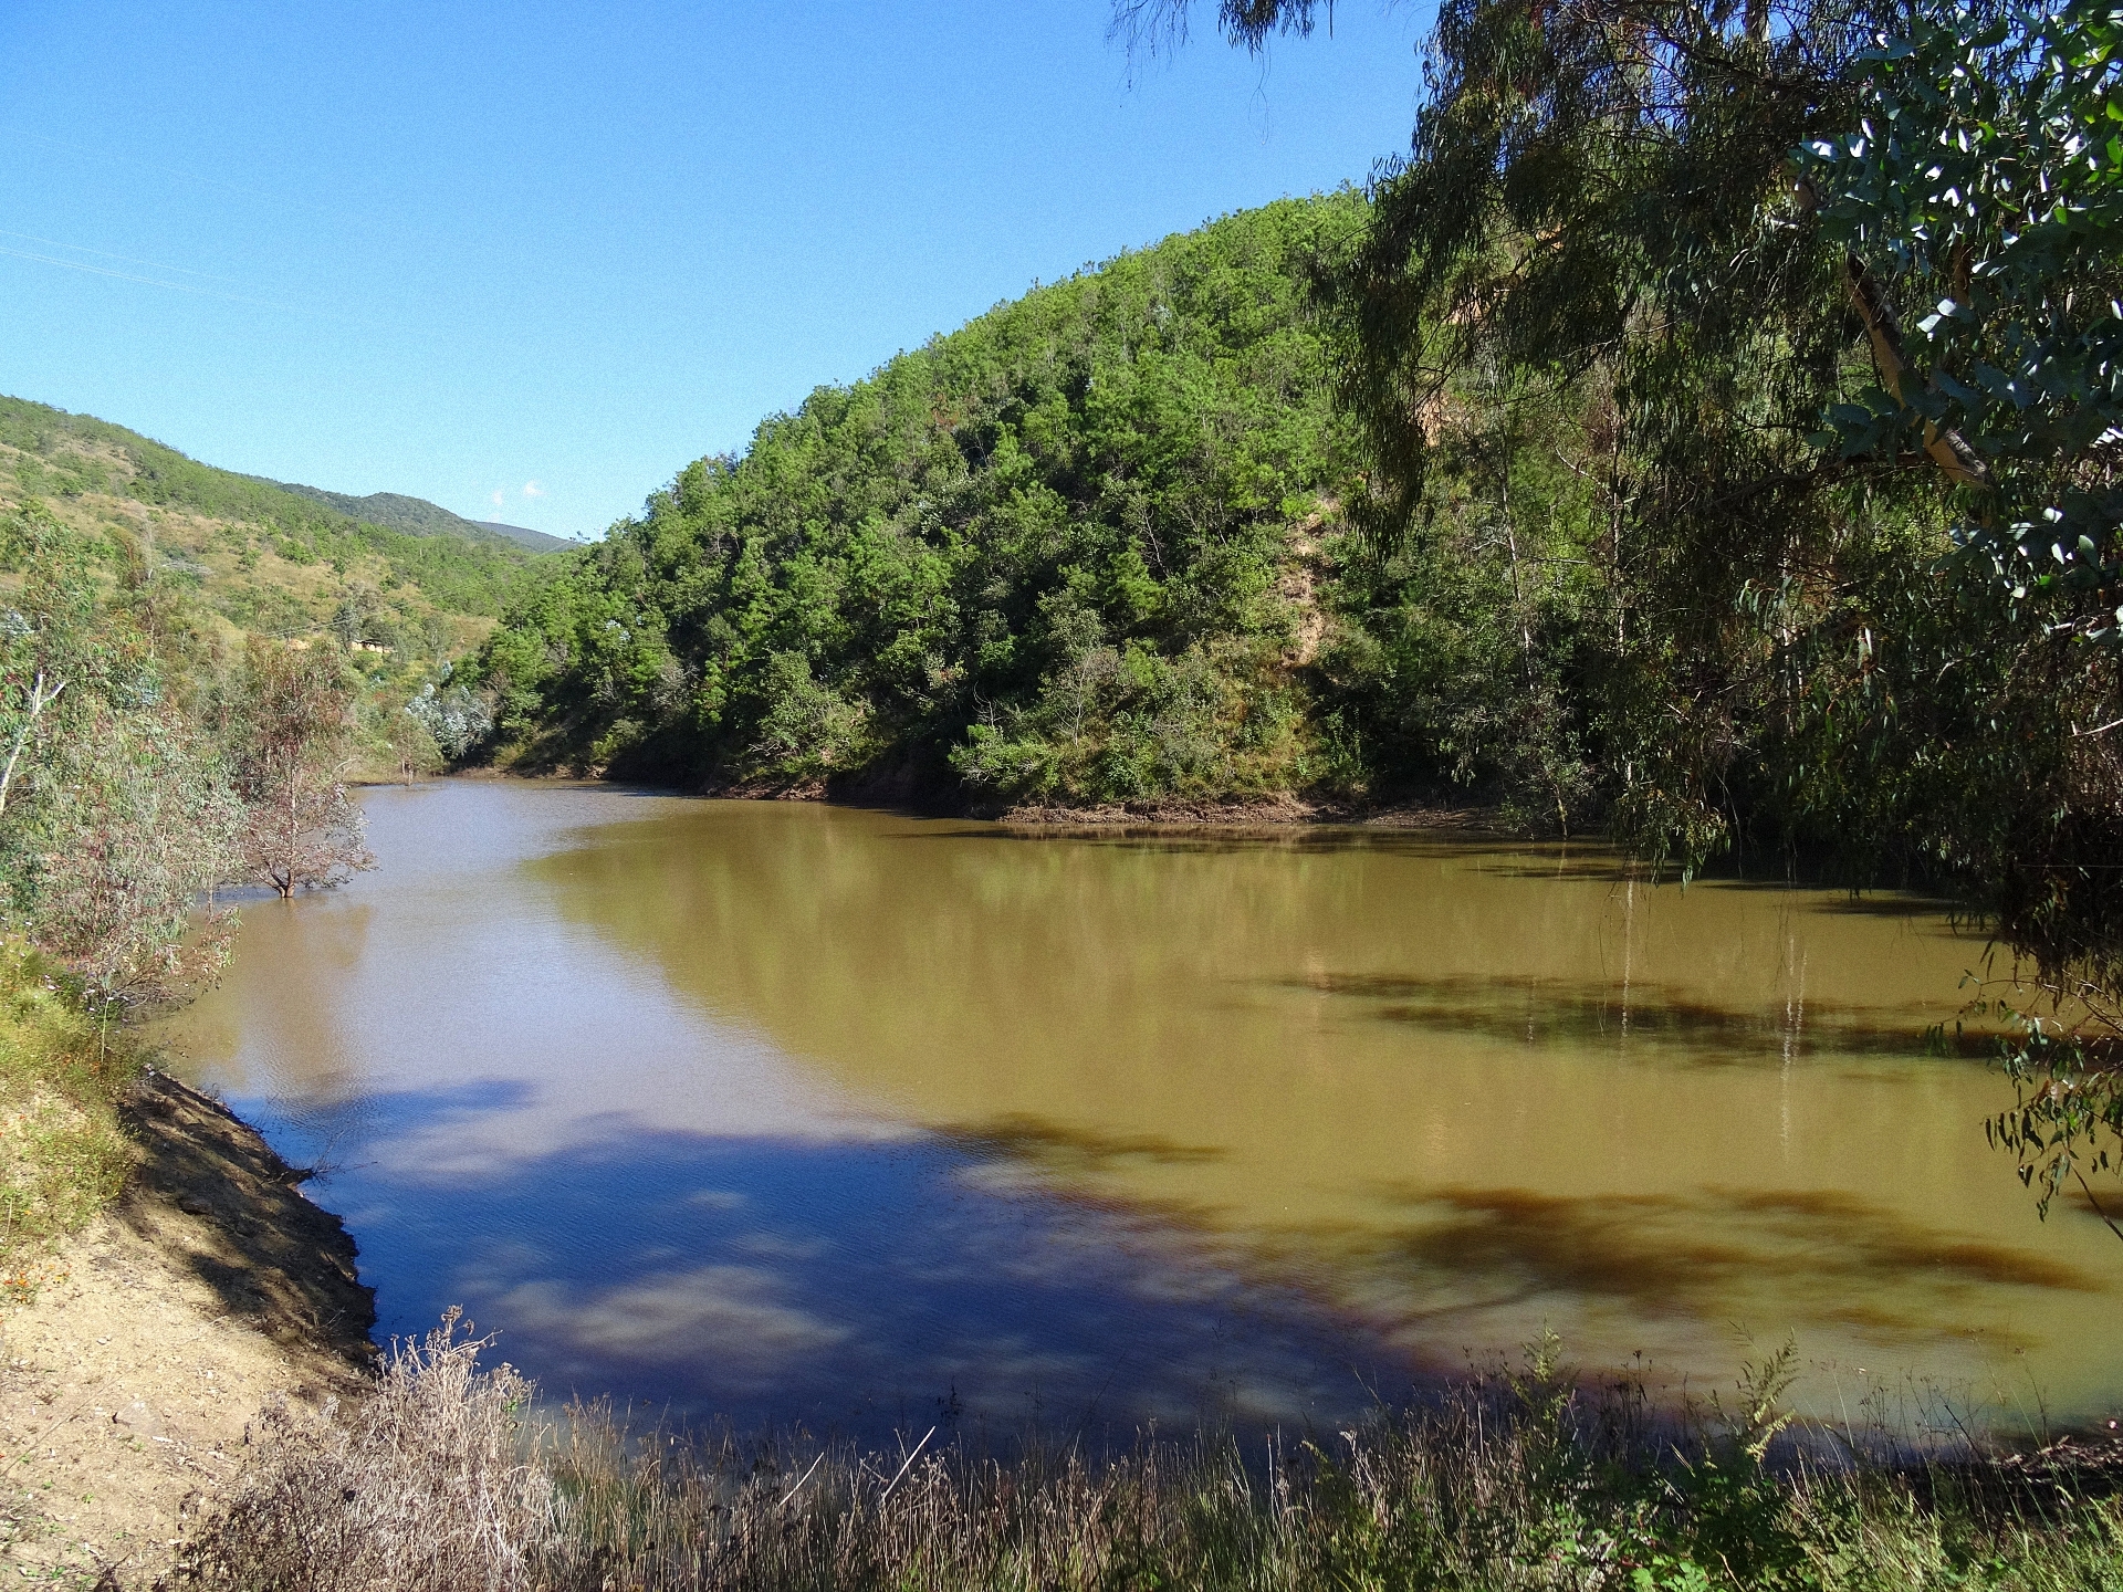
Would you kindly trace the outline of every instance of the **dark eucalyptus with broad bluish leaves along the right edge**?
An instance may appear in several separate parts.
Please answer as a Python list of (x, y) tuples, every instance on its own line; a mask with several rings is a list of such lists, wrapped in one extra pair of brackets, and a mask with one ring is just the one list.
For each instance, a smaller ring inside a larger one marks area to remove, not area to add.
[[(2051, 996), (1993, 1136), (2049, 1199), (2123, 1165), (2123, 8), (1919, 8), (1800, 155), (1875, 382), (1841, 456), (1936, 473), (1974, 624), (1934, 645), (1998, 775), (1951, 843)], [(2123, 1235), (2123, 1212), (2102, 1210)]]

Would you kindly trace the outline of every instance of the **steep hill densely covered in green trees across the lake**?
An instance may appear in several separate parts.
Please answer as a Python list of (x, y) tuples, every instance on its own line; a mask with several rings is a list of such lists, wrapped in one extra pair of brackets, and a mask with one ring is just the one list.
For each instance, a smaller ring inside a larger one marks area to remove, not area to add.
[(1501, 505), (1467, 448), (1418, 533), (1380, 531), (1321, 310), (1367, 214), (1287, 200), (1121, 255), (690, 465), (503, 618), (503, 762), (1586, 819), (1603, 439), (1535, 408)]

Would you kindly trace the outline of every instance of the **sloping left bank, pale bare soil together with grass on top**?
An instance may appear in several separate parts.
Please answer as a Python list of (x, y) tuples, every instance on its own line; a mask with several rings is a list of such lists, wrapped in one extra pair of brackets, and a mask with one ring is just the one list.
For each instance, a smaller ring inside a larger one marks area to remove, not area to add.
[(4, 968), (0, 1575), (144, 1588), (265, 1407), (363, 1392), (372, 1291), (253, 1129)]

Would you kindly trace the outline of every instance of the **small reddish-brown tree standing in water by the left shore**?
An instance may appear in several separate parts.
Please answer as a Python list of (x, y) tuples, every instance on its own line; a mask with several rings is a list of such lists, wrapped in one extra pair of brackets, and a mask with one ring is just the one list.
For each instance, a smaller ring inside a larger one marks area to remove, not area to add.
[(253, 641), (234, 709), (251, 877), (293, 896), (374, 868), (361, 809), (346, 796), (355, 686), (338, 652)]

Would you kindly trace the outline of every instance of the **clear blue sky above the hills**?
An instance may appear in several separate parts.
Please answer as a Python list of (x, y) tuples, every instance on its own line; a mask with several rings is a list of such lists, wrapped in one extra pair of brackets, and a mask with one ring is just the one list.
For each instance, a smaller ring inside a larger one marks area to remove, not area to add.
[(1265, 64), (1197, 11), (1132, 68), (1106, 0), (8, 4), (0, 393), (594, 535), (819, 382), (1405, 149), (1427, 4)]

